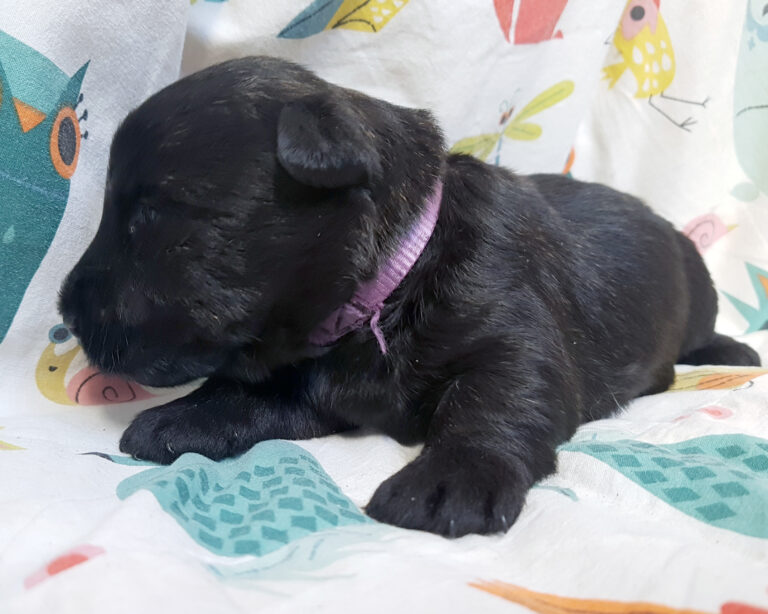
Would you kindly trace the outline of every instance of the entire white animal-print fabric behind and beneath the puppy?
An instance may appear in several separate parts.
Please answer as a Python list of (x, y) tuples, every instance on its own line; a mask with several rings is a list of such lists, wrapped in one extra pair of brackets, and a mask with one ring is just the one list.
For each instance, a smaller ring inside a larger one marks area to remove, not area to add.
[(765, 0), (0, 0), (0, 614), (767, 614), (768, 366), (679, 366), (582, 426), (505, 535), (366, 517), (419, 452), (372, 433), (118, 452), (190, 388), (90, 367), (57, 290), (122, 117), (246, 54), (429, 108), (453, 151), (637, 194), (768, 365)]

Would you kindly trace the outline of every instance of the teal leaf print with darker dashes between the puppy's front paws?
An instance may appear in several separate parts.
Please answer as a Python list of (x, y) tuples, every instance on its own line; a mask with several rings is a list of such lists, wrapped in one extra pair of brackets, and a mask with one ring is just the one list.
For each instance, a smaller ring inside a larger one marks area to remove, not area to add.
[(219, 556), (261, 557), (313, 533), (373, 524), (314, 457), (288, 441), (262, 441), (221, 462), (188, 452), (127, 477), (117, 496), (140, 490)]

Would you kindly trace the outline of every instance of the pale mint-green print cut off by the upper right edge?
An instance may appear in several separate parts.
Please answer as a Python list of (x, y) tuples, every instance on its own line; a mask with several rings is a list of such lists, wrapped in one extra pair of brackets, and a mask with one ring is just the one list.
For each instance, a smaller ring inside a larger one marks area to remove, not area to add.
[[(734, 91), (736, 155), (747, 177), (768, 194), (768, 1), (750, 0)], [(757, 191), (755, 191), (757, 196)]]

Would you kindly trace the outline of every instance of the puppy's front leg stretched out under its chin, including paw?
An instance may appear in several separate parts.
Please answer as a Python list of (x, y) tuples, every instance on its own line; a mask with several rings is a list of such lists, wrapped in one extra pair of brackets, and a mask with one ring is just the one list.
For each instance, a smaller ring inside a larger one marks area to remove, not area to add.
[(219, 460), (265, 439), (309, 439), (349, 428), (321, 416), (300, 393), (281, 384), (210, 379), (186, 397), (136, 416), (120, 450), (158, 463), (173, 462), (185, 452)]

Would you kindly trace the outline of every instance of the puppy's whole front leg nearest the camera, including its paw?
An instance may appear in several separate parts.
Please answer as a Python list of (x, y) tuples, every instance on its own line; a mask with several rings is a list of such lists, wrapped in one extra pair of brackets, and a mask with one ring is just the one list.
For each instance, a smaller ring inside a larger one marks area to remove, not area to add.
[[(385, 481), (367, 513), (382, 522), (458, 537), (506, 531), (528, 489), (555, 470), (575, 429), (577, 394), (554, 398), (555, 369), (460, 376), (445, 391), (421, 455)], [(538, 371), (538, 372), (536, 372)]]

